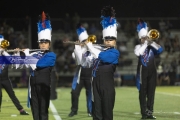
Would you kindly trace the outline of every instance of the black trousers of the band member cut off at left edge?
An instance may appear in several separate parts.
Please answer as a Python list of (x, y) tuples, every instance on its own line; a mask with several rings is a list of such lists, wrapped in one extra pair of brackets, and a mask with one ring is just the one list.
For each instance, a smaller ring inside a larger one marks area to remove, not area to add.
[[(21, 106), (18, 98), (16, 97), (16, 95), (14, 93), (11, 81), (9, 79), (8, 80), (2, 80), (2, 81), (0, 81), (0, 83), (1, 83), (1, 87), (0, 88), (4, 88), (6, 90), (7, 94), (11, 98), (11, 100), (14, 103), (14, 105), (16, 106), (16, 108), (18, 110), (23, 109), (23, 107)], [(2, 97), (2, 91), (1, 91), (1, 95), (0, 96)]]

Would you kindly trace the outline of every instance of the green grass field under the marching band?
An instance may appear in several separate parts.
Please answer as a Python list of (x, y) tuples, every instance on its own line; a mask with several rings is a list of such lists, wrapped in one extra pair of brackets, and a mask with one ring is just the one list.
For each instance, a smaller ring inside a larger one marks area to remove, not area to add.
[[(19, 115), (7, 93), (3, 90), (3, 101), (0, 120), (33, 120), (31, 109), (26, 107), (27, 89), (14, 89), (24, 109), (29, 116)], [(71, 89), (58, 88), (58, 99), (53, 100), (55, 107), (49, 108), (49, 120), (92, 120), (87, 116), (86, 98), (84, 89), (79, 98), (78, 115), (68, 117), (71, 107)], [(54, 112), (52, 112), (54, 111)], [(57, 111), (57, 112), (56, 112)], [(116, 102), (114, 107), (114, 120), (140, 120), (138, 91), (136, 87), (116, 88)], [(180, 86), (157, 87), (154, 105), (154, 115), (158, 120), (180, 120)], [(60, 119), (55, 119), (55, 117)]]

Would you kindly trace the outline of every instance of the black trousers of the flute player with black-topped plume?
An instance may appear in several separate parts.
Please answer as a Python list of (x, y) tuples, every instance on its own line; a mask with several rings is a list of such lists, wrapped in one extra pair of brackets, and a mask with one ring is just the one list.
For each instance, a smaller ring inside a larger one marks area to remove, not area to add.
[(93, 120), (113, 120), (115, 88), (113, 71), (96, 72), (92, 81)]

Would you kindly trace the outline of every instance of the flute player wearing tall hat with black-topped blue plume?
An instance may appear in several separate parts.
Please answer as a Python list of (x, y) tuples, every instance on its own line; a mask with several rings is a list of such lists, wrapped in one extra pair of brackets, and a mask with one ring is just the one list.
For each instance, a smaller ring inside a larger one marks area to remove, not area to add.
[[(105, 45), (116, 46), (117, 22), (113, 7), (105, 6), (101, 11), (103, 40)], [(114, 72), (120, 53), (115, 47), (107, 47), (103, 51), (96, 49), (92, 43), (85, 42), (94, 56), (92, 101), (93, 120), (113, 120), (115, 103)]]

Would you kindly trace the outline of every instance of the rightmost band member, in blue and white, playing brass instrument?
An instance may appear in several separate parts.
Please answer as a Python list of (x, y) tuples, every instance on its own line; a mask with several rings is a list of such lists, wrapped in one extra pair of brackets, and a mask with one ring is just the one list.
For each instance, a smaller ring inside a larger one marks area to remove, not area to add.
[(139, 90), (139, 102), (142, 119), (156, 119), (153, 116), (154, 96), (157, 71), (155, 56), (163, 52), (163, 48), (148, 37), (147, 23), (142, 19), (137, 25), (140, 44), (135, 46), (134, 53), (138, 57), (136, 85)]

